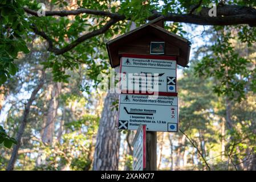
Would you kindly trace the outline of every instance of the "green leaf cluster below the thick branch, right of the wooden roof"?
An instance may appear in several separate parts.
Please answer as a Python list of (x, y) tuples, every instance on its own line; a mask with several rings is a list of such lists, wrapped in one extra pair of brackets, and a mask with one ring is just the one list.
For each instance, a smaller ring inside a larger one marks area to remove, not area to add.
[(214, 78), (214, 92), (218, 96), (240, 102), (249, 90), (254, 91), (255, 85), (251, 82), (254, 71), (249, 69), (253, 67), (253, 60), (239, 56), (231, 43), (234, 39), (229, 30), (221, 28), (218, 31), (221, 34), (213, 37), (216, 40), (210, 46), (212, 53), (205, 55), (195, 70), (198, 76)]

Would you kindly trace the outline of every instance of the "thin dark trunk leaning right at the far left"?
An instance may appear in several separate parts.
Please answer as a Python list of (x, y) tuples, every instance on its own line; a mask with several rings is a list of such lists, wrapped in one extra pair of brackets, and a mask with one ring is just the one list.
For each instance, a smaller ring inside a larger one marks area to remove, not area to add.
[(35, 100), (36, 94), (42, 88), (43, 83), (44, 83), (44, 73), (43, 73), (43, 76), (40, 79), (38, 85), (32, 91), (29, 101), (27, 102), (27, 104), (25, 106), (25, 110), (23, 112), (23, 117), (22, 117), (22, 121), (21, 121), (21, 126), (19, 126), (18, 134), (16, 137), (17, 145), (14, 146), (13, 151), (11, 152), (11, 158), (9, 160), (8, 167), (6, 168), (7, 171), (13, 171), (14, 164), (15, 164), (15, 161), (16, 161), (17, 155), (18, 155), (18, 150), (19, 150), (19, 147), (21, 147), (21, 138), (22, 138), (22, 135), (23, 135), (26, 125), (27, 125), (27, 118), (29, 117), (30, 106), (32, 105), (32, 102)]

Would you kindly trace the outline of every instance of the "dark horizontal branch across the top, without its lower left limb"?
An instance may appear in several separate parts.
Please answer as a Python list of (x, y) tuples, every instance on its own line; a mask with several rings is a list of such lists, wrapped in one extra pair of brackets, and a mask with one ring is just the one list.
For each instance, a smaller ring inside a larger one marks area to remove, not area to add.
[[(198, 14), (192, 14), (201, 5), (201, 0), (198, 5), (194, 6), (190, 10), (189, 14), (176, 14), (168, 13), (165, 15), (165, 21), (193, 23), (200, 25), (233, 25), (233, 24), (249, 24), (250, 26), (256, 26), (256, 9), (253, 7), (238, 6), (238, 5), (220, 5), (217, 7), (217, 16), (211, 17), (208, 15), (209, 7), (202, 7), (202, 10)], [(28, 14), (38, 16), (37, 11), (23, 8)], [(108, 11), (90, 10), (90, 9), (77, 9), (77, 10), (61, 10), (61, 11), (46, 11), (46, 16), (68, 16), (79, 14), (91, 14), (108, 16), (112, 19), (124, 20), (125, 15), (110, 13)], [(152, 15), (147, 19), (151, 20), (161, 16), (159, 11), (152, 11)], [(127, 19), (128, 20), (128, 19)]]

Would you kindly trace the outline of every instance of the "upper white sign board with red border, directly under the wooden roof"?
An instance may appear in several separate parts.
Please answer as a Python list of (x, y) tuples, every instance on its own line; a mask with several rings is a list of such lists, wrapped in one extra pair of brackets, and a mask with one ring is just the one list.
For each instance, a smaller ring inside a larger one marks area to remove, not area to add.
[(177, 64), (174, 59), (121, 57), (120, 89), (176, 93)]

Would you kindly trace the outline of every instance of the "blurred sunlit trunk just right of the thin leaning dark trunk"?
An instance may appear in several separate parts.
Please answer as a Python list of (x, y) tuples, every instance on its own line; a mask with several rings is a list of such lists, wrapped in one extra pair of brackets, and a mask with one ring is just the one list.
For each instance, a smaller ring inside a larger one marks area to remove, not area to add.
[(48, 105), (48, 111), (46, 116), (46, 123), (43, 129), (42, 142), (46, 144), (52, 144), (54, 137), (54, 124), (58, 110), (58, 97), (61, 89), (61, 83), (57, 82), (52, 84), (51, 100)]

